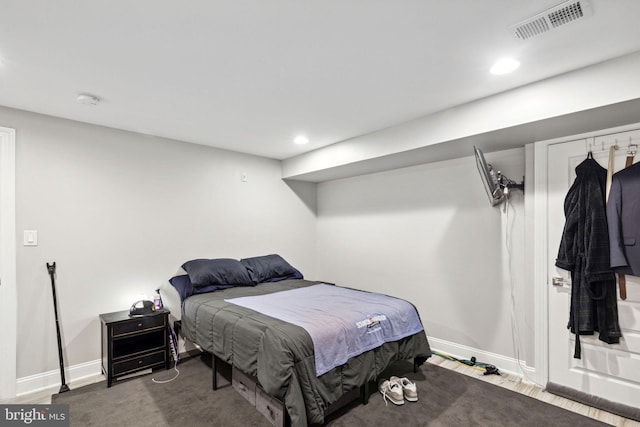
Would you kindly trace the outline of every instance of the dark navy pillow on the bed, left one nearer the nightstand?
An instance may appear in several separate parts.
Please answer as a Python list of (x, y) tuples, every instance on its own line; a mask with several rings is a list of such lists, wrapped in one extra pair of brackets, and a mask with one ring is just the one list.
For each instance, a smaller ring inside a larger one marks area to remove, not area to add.
[(185, 262), (182, 268), (189, 274), (189, 279), (195, 288), (216, 285), (254, 285), (247, 268), (235, 259), (194, 259)]

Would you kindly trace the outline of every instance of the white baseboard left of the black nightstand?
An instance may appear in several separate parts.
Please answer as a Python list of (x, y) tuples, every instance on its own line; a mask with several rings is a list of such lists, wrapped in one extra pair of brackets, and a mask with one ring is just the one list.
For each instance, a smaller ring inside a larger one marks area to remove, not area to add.
[[(86, 380), (90, 377), (102, 376), (102, 360), (92, 360), (69, 366), (65, 369), (65, 382), (72, 386), (74, 381)], [(62, 385), (60, 370), (29, 375), (16, 380), (16, 396), (35, 393), (46, 389), (57, 389)], [(55, 392), (55, 390), (54, 390)]]

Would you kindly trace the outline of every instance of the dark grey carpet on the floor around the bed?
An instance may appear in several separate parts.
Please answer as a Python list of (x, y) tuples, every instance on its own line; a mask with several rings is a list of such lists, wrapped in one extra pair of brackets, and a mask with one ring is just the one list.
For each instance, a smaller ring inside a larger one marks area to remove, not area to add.
[[(124, 380), (107, 388), (92, 384), (52, 396), (68, 403), (72, 426), (269, 426), (269, 422), (231, 386), (211, 390), (210, 366), (199, 357), (178, 365), (172, 382), (156, 384), (174, 370)], [(357, 402), (334, 413), (339, 426), (604, 426), (606, 424), (511, 392), (475, 378), (425, 363), (417, 373), (395, 364), (387, 375), (416, 382), (419, 401), (385, 406), (377, 391), (367, 405)], [(408, 374), (407, 374), (408, 373)], [(223, 380), (222, 384), (226, 384)]]

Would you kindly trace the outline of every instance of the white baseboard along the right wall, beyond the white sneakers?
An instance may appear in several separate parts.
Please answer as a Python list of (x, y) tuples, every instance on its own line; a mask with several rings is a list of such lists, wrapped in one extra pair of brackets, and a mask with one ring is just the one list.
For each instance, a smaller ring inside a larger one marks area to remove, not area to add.
[[(527, 366), (525, 362), (518, 361), (512, 357), (503, 356), (501, 354), (491, 353), (477, 348), (468, 347), (466, 345), (441, 340), (439, 338), (429, 337), (429, 344), (433, 351), (453, 356), (456, 359), (469, 360), (475, 357), (478, 362), (489, 363), (511, 375), (516, 375), (522, 379), (522, 382), (533, 384), (532, 378), (535, 378), (536, 369)], [(438, 357), (438, 356), (432, 356)]]

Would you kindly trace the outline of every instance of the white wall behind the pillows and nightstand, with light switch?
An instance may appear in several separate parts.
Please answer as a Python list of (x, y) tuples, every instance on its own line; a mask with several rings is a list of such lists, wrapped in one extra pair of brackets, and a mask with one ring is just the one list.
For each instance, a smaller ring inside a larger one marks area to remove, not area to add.
[(17, 131), (18, 378), (58, 369), (47, 262), (67, 366), (100, 358), (100, 313), (189, 259), (280, 253), (315, 276), (316, 188), (278, 161), (2, 107), (0, 126)]

